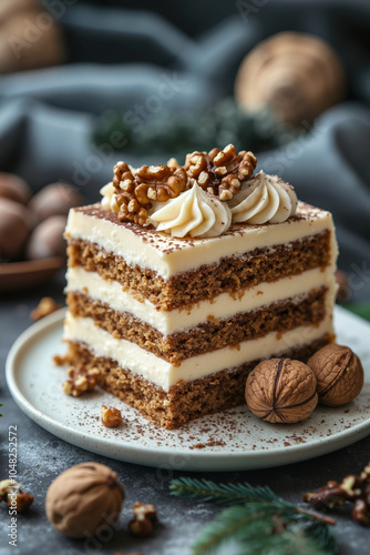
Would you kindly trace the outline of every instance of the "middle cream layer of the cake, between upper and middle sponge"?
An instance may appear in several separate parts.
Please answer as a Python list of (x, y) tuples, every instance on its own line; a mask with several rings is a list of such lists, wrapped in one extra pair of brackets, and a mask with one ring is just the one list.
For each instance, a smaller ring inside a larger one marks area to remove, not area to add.
[[(95, 301), (107, 304), (116, 312), (129, 312), (136, 319), (150, 324), (163, 335), (182, 332), (207, 320), (223, 320), (240, 312), (249, 312), (286, 299), (309, 293), (312, 289), (323, 285), (332, 289), (333, 269), (308, 270), (300, 275), (284, 278), (275, 283), (259, 283), (247, 289), (243, 295), (223, 293), (212, 301), (203, 301), (192, 310), (156, 310), (150, 301), (140, 302), (129, 292), (123, 291), (116, 281), (102, 279), (97, 272), (86, 272), (80, 266), (70, 268), (66, 273), (66, 292), (78, 292), (89, 295)], [(333, 292), (328, 292), (328, 295)]]

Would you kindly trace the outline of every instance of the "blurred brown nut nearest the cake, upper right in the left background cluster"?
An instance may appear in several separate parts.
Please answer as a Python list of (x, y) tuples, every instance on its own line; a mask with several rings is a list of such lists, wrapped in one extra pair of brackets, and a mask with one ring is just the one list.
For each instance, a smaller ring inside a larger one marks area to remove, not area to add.
[(30, 209), (39, 221), (51, 215), (64, 214), (73, 206), (83, 204), (83, 198), (72, 186), (64, 183), (51, 183), (38, 192), (30, 201)]

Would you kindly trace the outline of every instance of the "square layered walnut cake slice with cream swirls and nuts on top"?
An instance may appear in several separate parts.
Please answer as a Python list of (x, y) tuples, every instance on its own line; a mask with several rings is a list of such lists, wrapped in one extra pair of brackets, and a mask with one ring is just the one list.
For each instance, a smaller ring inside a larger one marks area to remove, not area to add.
[(260, 360), (333, 340), (331, 214), (255, 167), (233, 145), (120, 162), (70, 212), (66, 359), (164, 427), (243, 403)]

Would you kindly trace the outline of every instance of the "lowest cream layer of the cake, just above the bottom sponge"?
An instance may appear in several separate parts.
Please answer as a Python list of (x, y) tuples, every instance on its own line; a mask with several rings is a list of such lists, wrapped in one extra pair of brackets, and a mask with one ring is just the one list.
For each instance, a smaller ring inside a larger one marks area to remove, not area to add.
[(309, 344), (327, 332), (332, 333), (331, 315), (319, 326), (296, 327), (279, 335), (274, 332), (265, 337), (240, 343), (239, 349), (219, 349), (212, 353), (192, 356), (179, 366), (174, 366), (134, 343), (112, 337), (110, 333), (97, 327), (92, 319), (74, 317), (68, 313), (64, 323), (64, 340), (85, 343), (95, 356), (113, 359), (123, 369), (144, 377), (164, 391), (168, 391), (179, 380), (186, 382), (197, 380), (257, 359), (278, 355), (297, 345)]

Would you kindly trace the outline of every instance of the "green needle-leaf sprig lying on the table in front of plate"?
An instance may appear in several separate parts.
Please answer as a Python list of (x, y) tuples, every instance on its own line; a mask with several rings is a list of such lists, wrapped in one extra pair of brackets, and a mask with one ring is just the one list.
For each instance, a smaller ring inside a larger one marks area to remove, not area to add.
[(212, 555), (233, 543), (238, 555), (335, 555), (338, 541), (333, 518), (298, 507), (267, 486), (215, 484), (208, 480), (173, 480), (178, 497), (233, 504), (208, 524), (193, 545), (193, 555)]

